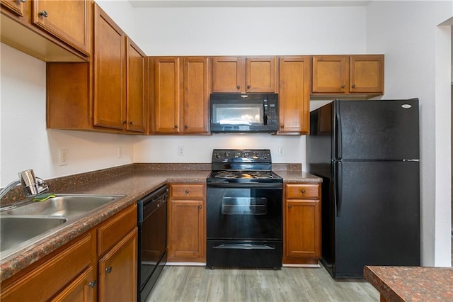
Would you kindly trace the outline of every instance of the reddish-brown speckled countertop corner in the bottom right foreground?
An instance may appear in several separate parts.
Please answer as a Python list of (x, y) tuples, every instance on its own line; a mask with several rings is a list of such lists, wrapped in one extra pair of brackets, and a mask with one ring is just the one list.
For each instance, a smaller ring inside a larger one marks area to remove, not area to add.
[(453, 301), (452, 267), (365, 267), (363, 275), (381, 301)]

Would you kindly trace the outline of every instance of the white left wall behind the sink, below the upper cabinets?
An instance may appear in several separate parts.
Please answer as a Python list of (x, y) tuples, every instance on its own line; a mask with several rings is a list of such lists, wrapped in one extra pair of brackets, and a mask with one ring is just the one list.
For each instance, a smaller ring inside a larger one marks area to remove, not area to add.
[[(137, 138), (127, 135), (46, 130), (45, 62), (1, 44), (0, 187), (34, 169), (44, 179), (129, 164)], [(122, 158), (117, 147), (122, 147)], [(68, 165), (59, 166), (59, 149)]]

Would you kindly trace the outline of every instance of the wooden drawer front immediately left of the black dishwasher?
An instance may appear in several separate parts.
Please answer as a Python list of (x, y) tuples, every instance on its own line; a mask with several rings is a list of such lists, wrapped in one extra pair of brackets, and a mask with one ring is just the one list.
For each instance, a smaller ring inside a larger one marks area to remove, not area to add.
[(117, 213), (98, 228), (98, 255), (103, 255), (137, 226), (137, 205)]

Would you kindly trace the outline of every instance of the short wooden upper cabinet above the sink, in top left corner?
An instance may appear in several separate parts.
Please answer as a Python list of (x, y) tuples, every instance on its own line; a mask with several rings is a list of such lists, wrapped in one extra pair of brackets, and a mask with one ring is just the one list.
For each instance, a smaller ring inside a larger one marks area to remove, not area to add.
[(1, 42), (45, 62), (86, 62), (91, 1), (1, 0)]

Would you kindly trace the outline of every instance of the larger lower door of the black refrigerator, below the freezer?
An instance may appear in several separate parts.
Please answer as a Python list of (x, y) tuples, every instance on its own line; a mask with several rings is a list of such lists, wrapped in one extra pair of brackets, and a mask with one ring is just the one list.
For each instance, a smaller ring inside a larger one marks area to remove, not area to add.
[(418, 162), (339, 162), (338, 167), (335, 276), (360, 277), (365, 265), (419, 266)]

